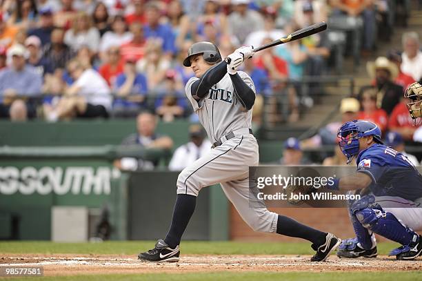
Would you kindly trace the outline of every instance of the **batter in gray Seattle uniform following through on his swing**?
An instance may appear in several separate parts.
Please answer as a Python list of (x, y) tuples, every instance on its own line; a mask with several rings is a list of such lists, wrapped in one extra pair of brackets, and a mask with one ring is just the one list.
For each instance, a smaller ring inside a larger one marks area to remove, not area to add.
[(230, 202), (254, 231), (279, 233), (312, 242), (316, 254), (312, 261), (323, 261), (341, 242), (331, 233), (312, 229), (299, 222), (268, 211), (265, 204), (251, 197), (249, 166), (258, 166), (257, 139), (252, 135), (251, 119), (255, 90), (252, 79), (237, 71), (252, 48), (241, 47), (222, 61), (210, 42), (194, 43), (183, 65), (192, 68), (185, 86), (201, 124), (208, 133), (212, 151), (185, 168), (177, 180), (177, 200), (172, 224), (164, 240), (154, 249), (139, 253), (141, 260), (175, 262), (179, 260), (181, 236), (195, 209), (201, 188), (220, 183)]

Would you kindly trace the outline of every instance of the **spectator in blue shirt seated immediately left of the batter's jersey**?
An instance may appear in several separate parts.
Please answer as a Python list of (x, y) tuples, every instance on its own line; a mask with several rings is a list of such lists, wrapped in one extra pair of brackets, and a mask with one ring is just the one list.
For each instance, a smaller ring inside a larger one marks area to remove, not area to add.
[(177, 117), (183, 117), (187, 108), (183, 85), (177, 81), (176, 72), (167, 70), (165, 77), (157, 88), (155, 113), (164, 122), (172, 122)]

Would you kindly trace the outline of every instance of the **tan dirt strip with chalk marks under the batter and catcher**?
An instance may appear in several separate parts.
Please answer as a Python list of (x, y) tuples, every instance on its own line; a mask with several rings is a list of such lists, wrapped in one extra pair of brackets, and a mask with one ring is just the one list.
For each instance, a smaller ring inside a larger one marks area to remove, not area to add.
[(183, 255), (177, 263), (140, 262), (128, 255), (16, 255), (0, 258), (3, 266), (42, 266), (44, 275), (106, 273), (171, 273), (205, 271), (422, 271), (422, 260), (343, 260), (333, 256), (327, 262), (309, 262), (308, 255)]

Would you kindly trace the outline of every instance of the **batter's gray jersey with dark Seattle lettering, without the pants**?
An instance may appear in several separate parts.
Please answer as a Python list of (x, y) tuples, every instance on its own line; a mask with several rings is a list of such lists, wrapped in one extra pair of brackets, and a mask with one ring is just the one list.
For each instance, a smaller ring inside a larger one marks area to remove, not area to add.
[[(238, 73), (255, 92), (254, 82), (249, 75), (243, 71)], [(197, 77), (190, 78), (186, 84), (185, 92), (211, 142), (217, 142), (223, 135), (227, 135), (233, 130), (250, 128), (252, 110), (246, 110), (238, 97), (234, 95), (229, 74), (224, 75), (219, 83), (212, 86), (208, 95), (205, 95), (200, 101), (192, 97), (190, 90), (194, 81), (197, 80), (199, 80)]]

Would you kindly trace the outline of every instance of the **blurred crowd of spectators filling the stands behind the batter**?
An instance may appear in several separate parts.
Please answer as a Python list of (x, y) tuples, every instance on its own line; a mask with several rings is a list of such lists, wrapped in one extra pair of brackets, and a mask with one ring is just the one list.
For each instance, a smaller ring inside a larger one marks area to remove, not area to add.
[[(362, 52), (371, 52), (377, 30), (391, 25), (394, 12), (385, 0), (0, 3), (0, 117), (13, 121), (38, 117), (50, 122), (136, 117), (144, 109), (164, 121), (192, 117), (183, 86), (193, 73), (181, 64), (192, 42), (212, 41), (225, 57), (238, 46), (257, 47), (328, 17), (356, 18), (363, 23)], [(386, 30), (380, 34), (386, 35)], [(260, 97), (288, 96), (287, 119), (294, 122), (301, 102), (309, 104), (310, 99), (299, 82), (304, 75), (332, 71), (338, 43), (330, 32), (323, 32), (259, 52), (245, 68)], [(402, 77), (396, 82), (402, 86), (410, 77), (421, 79), (422, 54), (416, 33), (403, 37), (403, 50), (402, 55), (389, 58), (401, 64)], [(394, 103), (399, 101), (394, 99)], [(390, 115), (395, 104), (383, 102), (382, 108)]]

